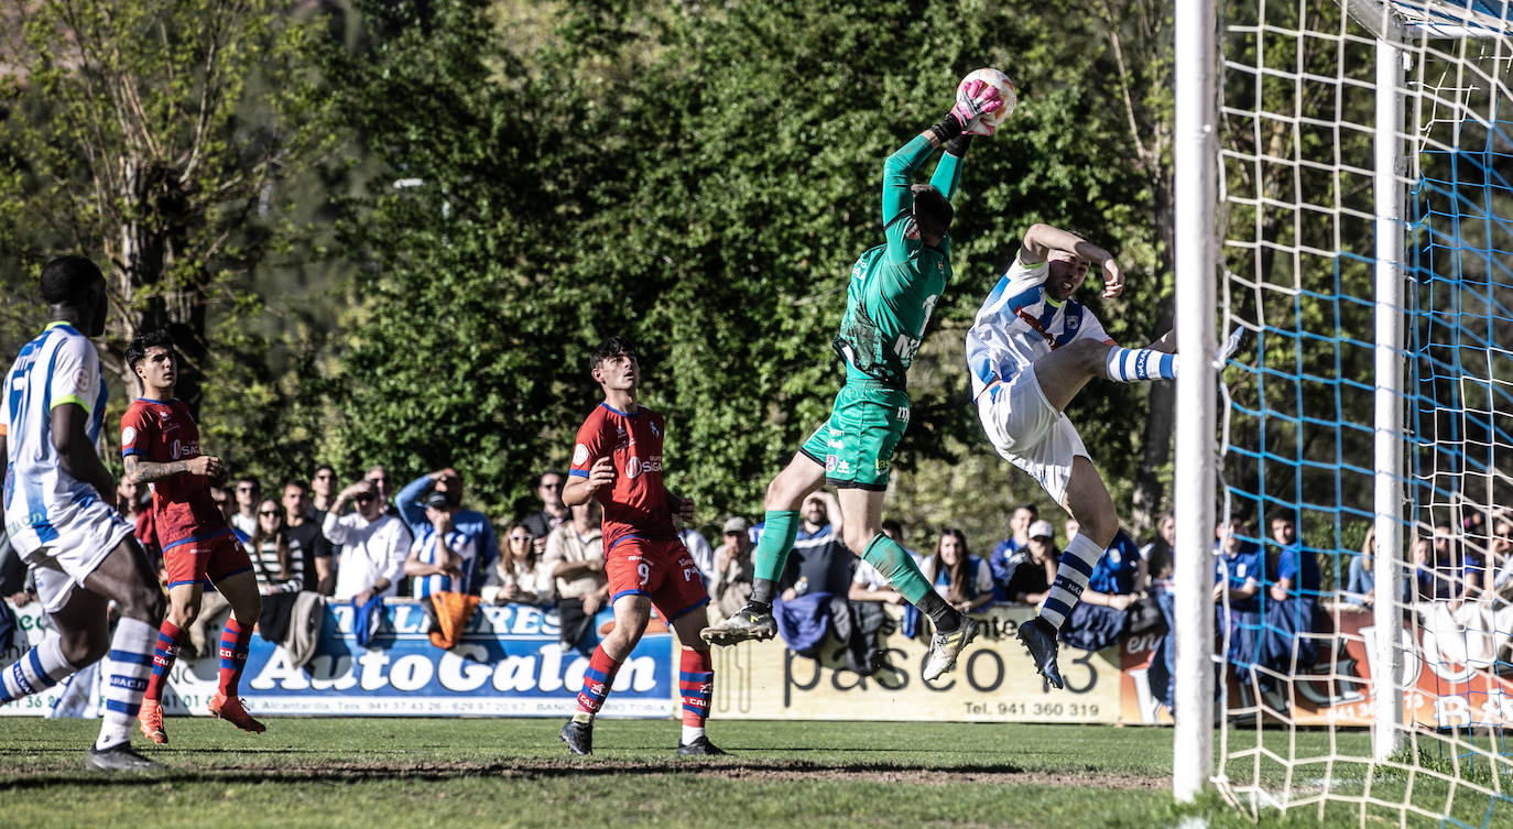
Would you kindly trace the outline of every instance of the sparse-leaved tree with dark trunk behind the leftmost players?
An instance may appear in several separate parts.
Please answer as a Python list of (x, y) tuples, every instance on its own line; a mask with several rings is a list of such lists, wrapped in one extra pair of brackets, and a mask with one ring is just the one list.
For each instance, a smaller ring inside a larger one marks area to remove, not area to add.
[(294, 12), (287, 0), (9, 0), (0, 203), (26, 221), (0, 228), (0, 274), (29, 280), (56, 251), (100, 262), (120, 309), (103, 357), (129, 396), (126, 342), (166, 327), (197, 399), (212, 313), (257, 307), (242, 280), (286, 230), (280, 182), (330, 142), (304, 59), (312, 27)]

